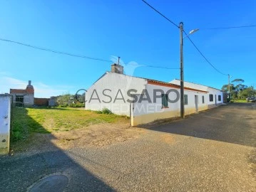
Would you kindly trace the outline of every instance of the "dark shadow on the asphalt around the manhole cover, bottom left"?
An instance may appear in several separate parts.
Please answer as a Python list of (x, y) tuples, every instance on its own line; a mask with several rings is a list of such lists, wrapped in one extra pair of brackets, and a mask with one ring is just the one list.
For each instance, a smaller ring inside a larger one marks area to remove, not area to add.
[[(29, 121), (34, 121), (27, 114), (27, 110), (24, 110), (23, 115)], [(35, 121), (33, 124), (43, 127)], [(71, 159), (63, 150), (50, 145), (50, 151), (0, 156), (0, 191), (26, 191), (39, 179), (51, 174), (68, 177), (66, 191), (113, 191), (113, 188)]]

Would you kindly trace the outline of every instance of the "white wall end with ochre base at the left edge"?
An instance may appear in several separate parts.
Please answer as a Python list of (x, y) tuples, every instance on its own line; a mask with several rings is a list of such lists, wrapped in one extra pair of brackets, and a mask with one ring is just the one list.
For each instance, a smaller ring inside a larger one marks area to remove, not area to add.
[(0, 94), (0, 154), (8, 154), (10, 148), (11, 95)]

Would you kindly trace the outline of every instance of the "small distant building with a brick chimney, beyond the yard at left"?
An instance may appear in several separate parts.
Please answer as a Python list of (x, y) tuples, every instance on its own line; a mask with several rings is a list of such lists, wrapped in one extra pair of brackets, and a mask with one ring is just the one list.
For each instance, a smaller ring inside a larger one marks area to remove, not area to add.
[(31, 80), (29, 80), (26, 90), (10, 89), (10, 95), (12, 95), (14, 105), (16, 106), (34, 105), (34, 87), (31, 85)]

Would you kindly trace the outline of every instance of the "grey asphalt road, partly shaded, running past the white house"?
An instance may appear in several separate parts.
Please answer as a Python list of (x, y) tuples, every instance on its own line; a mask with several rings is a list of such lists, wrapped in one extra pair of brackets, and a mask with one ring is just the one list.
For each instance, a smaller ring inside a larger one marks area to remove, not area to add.
[(65, 191), (256, 191), (255, 117), (254, 103), (232, 103), (118, 144), (1, 156), (0, 191), (54, 174)]

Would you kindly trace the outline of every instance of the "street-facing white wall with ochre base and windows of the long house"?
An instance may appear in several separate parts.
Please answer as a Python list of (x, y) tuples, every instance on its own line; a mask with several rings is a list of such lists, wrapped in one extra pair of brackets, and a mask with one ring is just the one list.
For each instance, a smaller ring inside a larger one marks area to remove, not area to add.
[[(158, 119), (180, 117), (180, 98), (177, 102), (168, 102), (168, 107), (166, 108), (162, 107), (162, 98), (160, 97), (156, 98), (155, 102), (153, 102), (153, 90), (163, 90), (163, 92), (166, 93), (168, 92), (168, 90), (173, 89), (178, 92), (178, 95), (180, 95), (180, 89), (150, 84), (146, 85), (146, 89), (148, 90), (148, 95), (150, 96), (150, 98), (152, 98), (152, 102), (149, 103), (148, 101), (143, 101), (133, 103), (133, 111), (131, 115), (132, 126), (153, 122)], [(160, 95), (160, 93), (158, 93), (158, 95)], [(208, 109), (208, 94), (206, 92), (185, 90), (184, 95), (188, 95), (188, 105), (185, 105), (184, 107), (185, 114), (197, 112), (195, 107), (195, 95), (198, 95), (198, 111)], [(205, 97), (205, 103), (202, 102), (202, 96)], [(168, 97), (170, 98), (170, 100), (175, 100), (177, 95), (175, 92), (170, 92)]]

